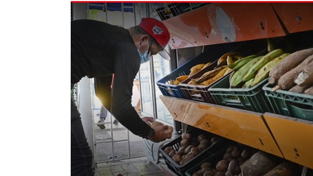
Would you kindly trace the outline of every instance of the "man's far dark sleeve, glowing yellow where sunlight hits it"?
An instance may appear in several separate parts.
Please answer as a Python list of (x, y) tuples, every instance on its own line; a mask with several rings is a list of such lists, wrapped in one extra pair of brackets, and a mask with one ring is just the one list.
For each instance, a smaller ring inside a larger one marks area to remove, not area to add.
[(111, 112), (111, 84), (112, 75), (95, 78), (95, 94), (101, 104)]

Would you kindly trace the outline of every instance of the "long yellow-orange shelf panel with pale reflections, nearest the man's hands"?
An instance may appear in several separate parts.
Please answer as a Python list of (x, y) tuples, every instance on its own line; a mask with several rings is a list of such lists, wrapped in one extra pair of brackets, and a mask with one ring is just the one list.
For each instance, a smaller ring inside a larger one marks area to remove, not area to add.
[(261, 113), (163, 95), (160, 99), (179, 122), (283, 158)]

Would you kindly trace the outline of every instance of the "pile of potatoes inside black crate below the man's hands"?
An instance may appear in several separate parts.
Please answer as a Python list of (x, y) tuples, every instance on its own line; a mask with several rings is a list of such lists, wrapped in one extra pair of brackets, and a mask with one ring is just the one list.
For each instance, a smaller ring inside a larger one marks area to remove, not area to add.
[(193, 138), (192, 135), (187, 132), (183, 133), (181, 138), (181, 146), (177, 151), (171, 146), (164, 149), (165, 153), (179, 165), (185, 165), (220, 139), (219, 137), (209, 138), (204, 134), (199, 134), (196, 138)]

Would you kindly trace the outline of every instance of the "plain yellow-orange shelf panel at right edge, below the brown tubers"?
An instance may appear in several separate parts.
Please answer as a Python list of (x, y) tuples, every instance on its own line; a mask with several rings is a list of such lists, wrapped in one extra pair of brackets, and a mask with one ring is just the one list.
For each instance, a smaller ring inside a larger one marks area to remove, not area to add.
[(284, 157), (313, 169), (313, 122), (263, 114)]

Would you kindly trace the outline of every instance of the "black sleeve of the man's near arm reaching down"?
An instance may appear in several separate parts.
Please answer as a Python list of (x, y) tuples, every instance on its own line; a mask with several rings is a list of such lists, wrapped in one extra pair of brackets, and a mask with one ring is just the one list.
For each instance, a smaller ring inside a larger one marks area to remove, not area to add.
[(112, 115), (137, 136), (145, 137), (151, 127), (143, 122), (132, 106), (133, 82), (140, 67), (134, 43), (119, 43), (114, 60)]

